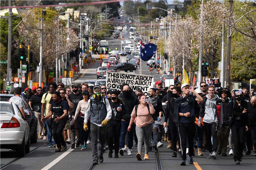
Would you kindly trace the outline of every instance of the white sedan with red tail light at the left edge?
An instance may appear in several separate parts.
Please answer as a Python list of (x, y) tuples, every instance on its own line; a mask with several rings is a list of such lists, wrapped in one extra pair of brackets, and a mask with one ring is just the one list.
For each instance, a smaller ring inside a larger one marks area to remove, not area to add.
[[(12, 95), (13, 96), (13, 95)], [(16, 151), (17, 157), (24, 157), (30, 151), (30, 128), (19, 107), (12, 102), (0, 101), (0, 147)]]

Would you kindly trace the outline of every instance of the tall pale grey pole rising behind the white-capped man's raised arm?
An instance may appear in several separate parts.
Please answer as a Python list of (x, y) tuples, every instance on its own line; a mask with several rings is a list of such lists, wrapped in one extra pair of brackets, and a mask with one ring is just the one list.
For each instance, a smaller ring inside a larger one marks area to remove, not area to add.
[(199, 58), (198, 58), (198, 72), (197, 72), (197, 81), (196, 86), (199, 87), (200, 82), (202, 81), (202, 41), (203, 41), (203, 9), (204, 9), (204, 0), (201, 4), (201, 13), (200, 13), (200, 41), (199, 41)]

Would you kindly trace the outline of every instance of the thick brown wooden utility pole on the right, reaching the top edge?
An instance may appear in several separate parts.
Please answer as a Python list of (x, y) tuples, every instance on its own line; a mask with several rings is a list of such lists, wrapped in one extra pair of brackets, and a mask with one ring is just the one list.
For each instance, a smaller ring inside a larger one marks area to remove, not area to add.
[(231, 56), (231, 18), (233, 15), (233, 0), (228, 1), (229, 17), (228, 17), (228, 30), (227, 30), (227, 48), (226, 48), (226, 65), (225, 69), (225, 82), (226, 86), (230, 86), (230, 56)]

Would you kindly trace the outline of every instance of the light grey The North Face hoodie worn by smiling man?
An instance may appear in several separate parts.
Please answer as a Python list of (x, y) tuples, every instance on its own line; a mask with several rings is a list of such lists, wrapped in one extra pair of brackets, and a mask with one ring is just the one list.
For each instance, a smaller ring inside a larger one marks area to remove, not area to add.
[(216, 106), (216, 101), (218, 99), (218, 95), (214, 94), (214, 97), (212, 99), (209, 99), (209, 94), (206, 94), (205, 96), (207, 99), (204, 102), (204, 119), (203, 122), (206, 123), (213, 123), (213, 122), (218, 122), (218, 113), (217, 106)]

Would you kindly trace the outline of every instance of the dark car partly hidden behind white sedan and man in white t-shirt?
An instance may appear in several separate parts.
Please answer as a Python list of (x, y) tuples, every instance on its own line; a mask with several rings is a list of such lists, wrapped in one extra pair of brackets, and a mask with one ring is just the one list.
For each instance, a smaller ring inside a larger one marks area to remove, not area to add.
[[(9, 101), (10, 98), (13, 96), (13, 94), (0, 94), (0, 101)], [(28, 101), (20, 95), (20, 98), (24, 102), (24, 112), (26, 113), (26, 116), (31, 116), (31, 119), (26, 119), (28, 122), (29, 128), (30, 128), (30, 142), (36, 143), (37, 142), (37, 118), (35, 116), (35, 113), (30, 108)]]

